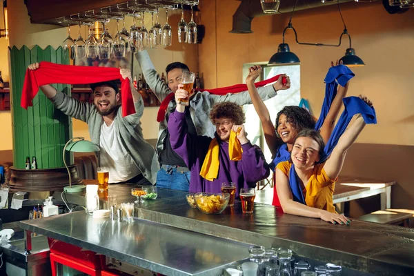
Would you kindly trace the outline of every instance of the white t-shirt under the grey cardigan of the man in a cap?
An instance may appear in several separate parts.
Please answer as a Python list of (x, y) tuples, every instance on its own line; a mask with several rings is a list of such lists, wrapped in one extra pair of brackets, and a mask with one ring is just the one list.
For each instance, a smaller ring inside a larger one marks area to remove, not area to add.
[(121, 143), (121, 137), (117, 135), (113, 122), (110, 126), (106, 126), (103, 121), (99, 144), (101, 146), (99, 151), (100, 166), (109, 168), (109, 183), (127, 181), (141, 173)]

